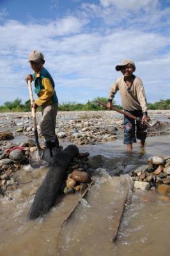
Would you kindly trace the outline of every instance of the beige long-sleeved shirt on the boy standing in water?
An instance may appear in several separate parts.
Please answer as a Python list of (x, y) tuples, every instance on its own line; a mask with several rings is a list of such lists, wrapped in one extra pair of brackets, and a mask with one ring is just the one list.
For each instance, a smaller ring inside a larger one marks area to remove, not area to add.
[(146, 95), (144, 92), (143, 82), (135, 76), (134, 82), (128, 92), (128, 86), (125, 83), (124, 76), (119, 77), (111, 86), (109, 92), (109, 100), (114, 98), (114, 95), (119, 90), (121, 95), (121, 102), (123, 109), (127, 111), (142, 110), (143, 113), (147, 111)]

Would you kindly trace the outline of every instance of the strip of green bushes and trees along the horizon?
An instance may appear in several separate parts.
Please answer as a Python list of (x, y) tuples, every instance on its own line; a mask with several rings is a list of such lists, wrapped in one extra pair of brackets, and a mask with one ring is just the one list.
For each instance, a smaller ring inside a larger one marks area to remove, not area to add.
[[(98, 106), (95, 100), (107, 103), (107, 98), (97, 97), (92, 101), (88, 101), (85, 104), (76, 102), (63, 102), (59, 104), (59, 111), (92, 111), (92, 110), (105, 110), (102, 106)], [(122, 109), (121, 106), (116, 105), (116, 102), (112, 102), (116, 108)], [(148, 109), (170, 109), (170, 99), (160, 100), (155, 103), (148, 103)], [(38, 108), (38, 111), (41, 109)], [(28, 112), (30, 109), (30, 100), (27, 100), (22, 104), (22, 100), (17, 98), (13, 101), (4, 102), (3, 106), (0, 106), (0, 112)]]

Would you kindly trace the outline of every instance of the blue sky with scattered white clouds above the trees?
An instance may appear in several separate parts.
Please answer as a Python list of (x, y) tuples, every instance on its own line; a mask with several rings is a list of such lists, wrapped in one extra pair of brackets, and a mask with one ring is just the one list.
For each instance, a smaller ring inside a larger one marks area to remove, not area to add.
[(0, 104), (29, 98), (33, 50), (43, 52), (60, 103), (107, 97), (125, 58), (148, 102), (169, 99), (169, 24), (169, 0), (0, 0)]

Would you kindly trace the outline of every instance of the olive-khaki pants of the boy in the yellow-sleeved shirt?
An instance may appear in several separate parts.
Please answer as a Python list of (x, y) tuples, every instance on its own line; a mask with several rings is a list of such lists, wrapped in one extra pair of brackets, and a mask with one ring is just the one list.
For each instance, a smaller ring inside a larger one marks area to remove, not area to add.
[(40, 124), (45, 141), (56, 140), (56, 116), (58, 114), (58, 103), (42, 107), (42, 122)]

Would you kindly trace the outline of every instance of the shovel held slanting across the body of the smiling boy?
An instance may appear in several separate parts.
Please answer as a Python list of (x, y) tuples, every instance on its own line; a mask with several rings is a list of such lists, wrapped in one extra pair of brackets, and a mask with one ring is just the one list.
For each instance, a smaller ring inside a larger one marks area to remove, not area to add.
[[(104, 108), (107, 108), (107, 104), (105, 104), (103, 102), (100, 102), (99, 100), (95, 100), (95, 102), (98, 103), (100, 106), (103, 106)], [(120, 109), (117, 109), (113, 106), (112, 106), (111, 109), (118, 112), (118, 113), (121, 113), (121, 114), (123, 114), (123, 115), (125, 115), (129, 118), (132, 118), (132, 119), (138, 121), (139, 123), (141, 123), (141, 127), (147, 129), (147, 131), (149, 131), (149, 132), (162, 132), (162, 131), (167, 131), (170, 128), (170, 123), (169, 122), (157, 121), (155, 124), (150, 125), (146, 121), (142, 122), (140, 117), (129, 114), (129, 113), (127, 113), (125, 111), (122, 111)]]

